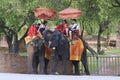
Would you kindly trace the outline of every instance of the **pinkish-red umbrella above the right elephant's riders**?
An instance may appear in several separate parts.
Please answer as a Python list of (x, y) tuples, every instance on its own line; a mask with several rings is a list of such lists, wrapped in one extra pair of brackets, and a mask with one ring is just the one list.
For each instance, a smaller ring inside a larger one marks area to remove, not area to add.
[(67, 8), (59, 12), (59, 18), (62, 19), (79, 18), (80, 15), (81, 15), (81, 11), (74, 8)]

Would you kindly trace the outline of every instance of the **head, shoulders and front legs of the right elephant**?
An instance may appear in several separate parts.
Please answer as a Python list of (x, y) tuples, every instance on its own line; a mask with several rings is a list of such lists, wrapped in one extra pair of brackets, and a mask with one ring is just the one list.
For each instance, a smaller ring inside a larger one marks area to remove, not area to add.
[(52, 74), (56, 72), (56, 66), (59, 61), (59, 56), (62, 58), (62, 74), (67, 74), (67, 61), (69, 58), (69, 42), (67, 38), (64, 37), (59, 31), (52, 33), (49, 40), (49, 47), (55, 47), (54, 56), (53, 56), (53, 65), (52, 65)]

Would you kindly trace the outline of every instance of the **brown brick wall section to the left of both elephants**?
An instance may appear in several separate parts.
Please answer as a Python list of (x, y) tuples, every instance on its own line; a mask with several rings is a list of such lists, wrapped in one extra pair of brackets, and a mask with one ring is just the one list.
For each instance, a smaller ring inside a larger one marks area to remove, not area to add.
[(0, 72), (27, 73), (27, 57), (0, 54)]

